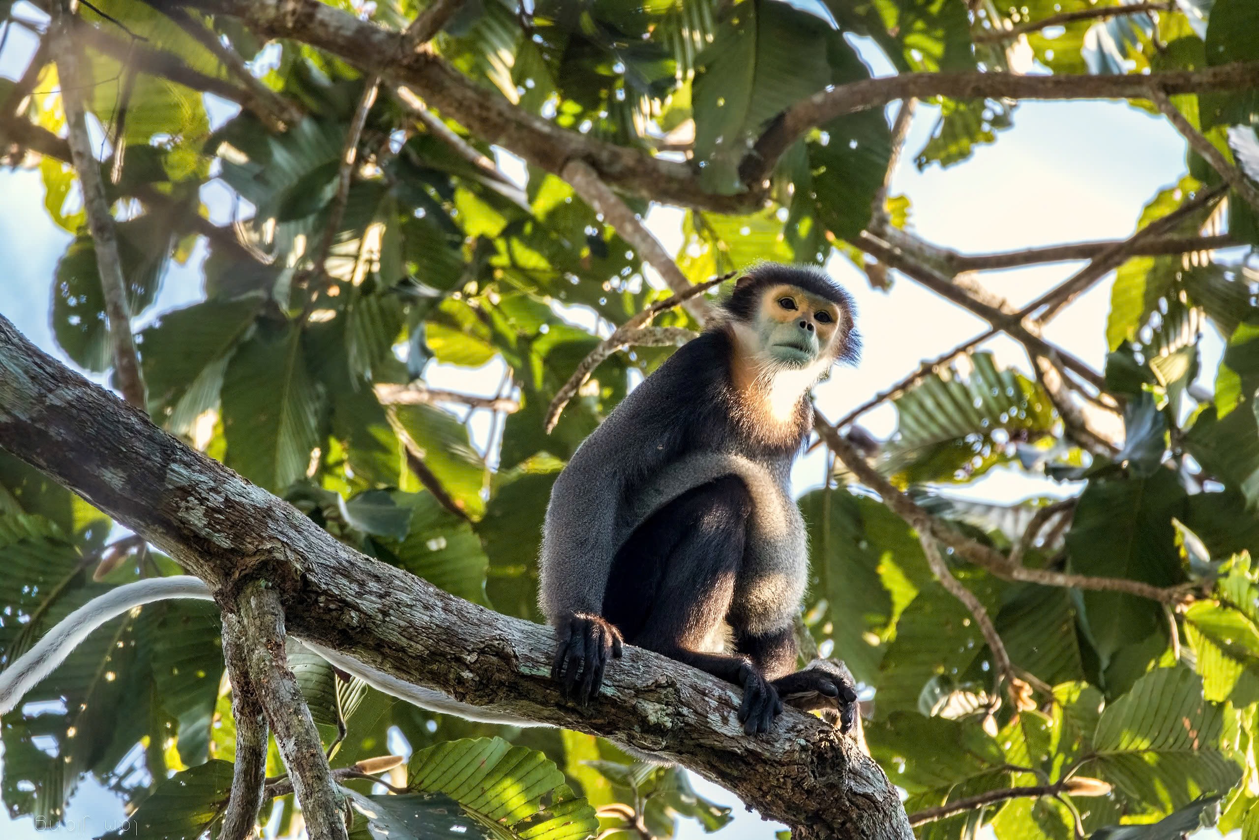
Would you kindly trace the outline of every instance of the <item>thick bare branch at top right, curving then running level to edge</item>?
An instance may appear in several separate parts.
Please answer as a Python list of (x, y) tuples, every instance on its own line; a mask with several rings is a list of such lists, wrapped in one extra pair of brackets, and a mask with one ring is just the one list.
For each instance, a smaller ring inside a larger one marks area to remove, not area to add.
[(745, 184), (758, 184), (773, 164), (815, 126), (894, 99), (1143, 99), (1151, 86), (1167, 93), (1240, 91), (1259, 87), (1259, 62), (1204, 71), (1133, 76), (1016, 76), (1013, 73), (901, 73), (850, 82), (801, 99), (774, 120), (740, 166)]

